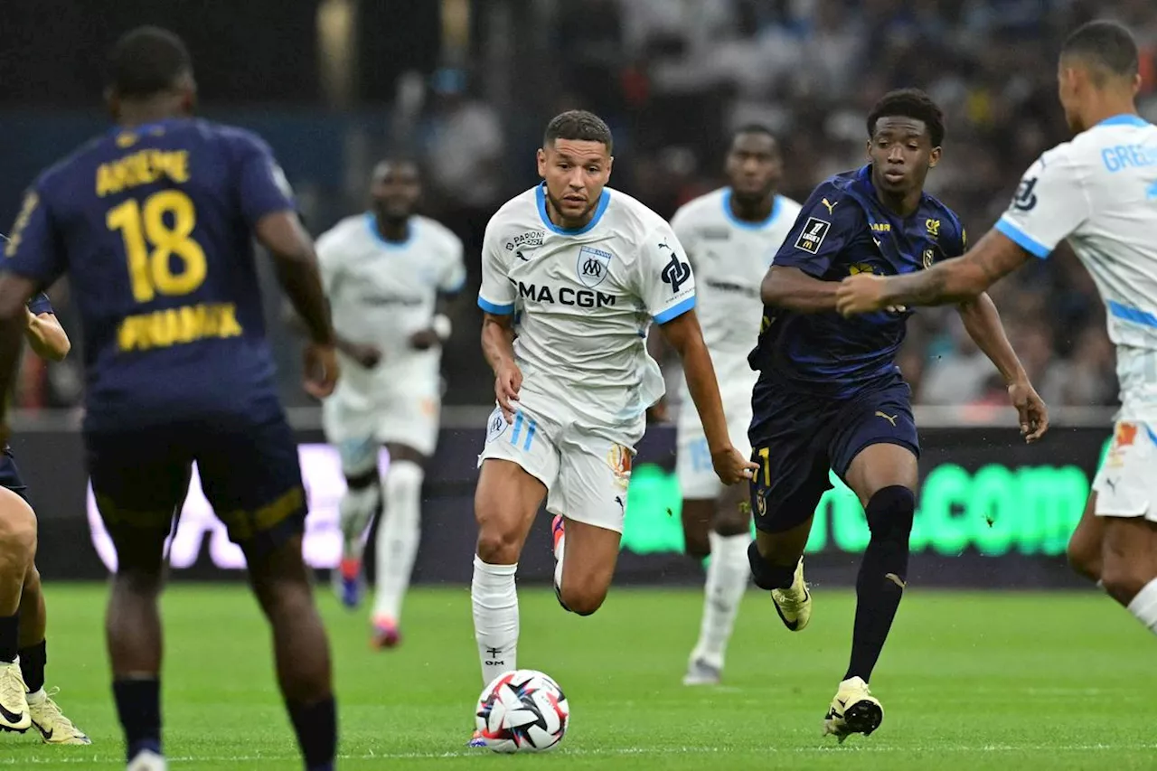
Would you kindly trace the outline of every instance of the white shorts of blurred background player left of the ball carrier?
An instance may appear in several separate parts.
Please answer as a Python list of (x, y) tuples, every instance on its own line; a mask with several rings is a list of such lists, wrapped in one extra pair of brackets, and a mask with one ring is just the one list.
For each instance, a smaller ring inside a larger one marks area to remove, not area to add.
[(386, 443), (412, 447), (422, 455), (437, 447), (441, 397), (439, 383), (405, 381), (404, 389), (375, 395), (371, 405), (346, 398), (339, 390), (322, 404), (322, 426), (341, 456), (347, 475), (364, 473), (377, 464), (377, 448)]

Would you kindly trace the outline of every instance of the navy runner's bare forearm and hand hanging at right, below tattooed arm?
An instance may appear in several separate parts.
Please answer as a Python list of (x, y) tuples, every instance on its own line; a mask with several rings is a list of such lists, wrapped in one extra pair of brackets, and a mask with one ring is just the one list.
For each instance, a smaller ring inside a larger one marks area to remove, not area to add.
[(968, 337), (996, 365), (1004, 379), (1009, 399), (1019, 417), (1020, 434), (1027, 442), (1037, 441), (1048, 431), (1048, 407), (1032, 387), (1020, 359), (1009, 344), (996, 306), (987, 292), (981, 292), (975, 300), (960, 303), (959, 311)]

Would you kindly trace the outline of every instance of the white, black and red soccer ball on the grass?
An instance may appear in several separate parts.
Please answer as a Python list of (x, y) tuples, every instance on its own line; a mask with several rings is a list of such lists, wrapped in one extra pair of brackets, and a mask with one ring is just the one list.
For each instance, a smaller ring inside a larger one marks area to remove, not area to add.
[(570, 706), (548, 675), (518, 669), (482, 689), (474, 708), (478, 733), (495, 752), (543, 752), (567, 733)]

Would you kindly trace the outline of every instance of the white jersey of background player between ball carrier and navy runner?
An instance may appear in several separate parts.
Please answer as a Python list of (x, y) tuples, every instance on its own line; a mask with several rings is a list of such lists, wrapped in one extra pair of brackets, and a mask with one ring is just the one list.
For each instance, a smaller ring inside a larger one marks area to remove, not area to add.
[(764, 315), (759, 286), (797, 214), (799, 204), (776, 196), (766, 220), (745, 222), (731, 212), (731, 189), (721, 188), (687, 203), (671, 218), (671, 228), (695, 271), (695, 313), (721, 377), (750, 372), (747, 354), (756, 347)]

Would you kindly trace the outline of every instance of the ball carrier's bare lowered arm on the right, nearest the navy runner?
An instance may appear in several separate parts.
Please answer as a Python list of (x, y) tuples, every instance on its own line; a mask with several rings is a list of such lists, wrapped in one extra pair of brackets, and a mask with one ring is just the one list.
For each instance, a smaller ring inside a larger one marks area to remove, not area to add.
[(712, 366), (707, 344), (703, 343), (703, 332), (699, 328), (695, 311), (687, 310), (661, 324), (659, 329), (683, 360), (687, 390), (691, 391), (691, 399), (695, 403), (699, 419), (703, 424), (703, 434), (707, 436), (707, 448), (712, 453), (715, 473), (729, 485), (750, 479), (752, 469), (756, 469), (757, 464), (743, 457), (739, 450), (732, 447), (731, 438), (728, 436), (715, 368)]

